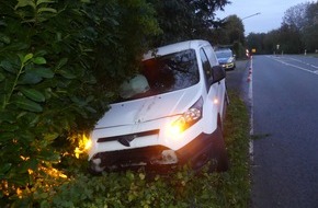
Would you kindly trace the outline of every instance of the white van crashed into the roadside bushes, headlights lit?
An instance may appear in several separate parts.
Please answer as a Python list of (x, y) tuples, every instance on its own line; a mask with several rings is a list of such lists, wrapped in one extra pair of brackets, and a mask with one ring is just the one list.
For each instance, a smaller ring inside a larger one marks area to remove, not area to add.
[(91, 171), (179, 164), (196, 170), (211, 159), (212, 169), (226, 171), (225, 74), (206, 41), (146, 54), (140, 73), (122, 84), (122, 100), (91, 132)]

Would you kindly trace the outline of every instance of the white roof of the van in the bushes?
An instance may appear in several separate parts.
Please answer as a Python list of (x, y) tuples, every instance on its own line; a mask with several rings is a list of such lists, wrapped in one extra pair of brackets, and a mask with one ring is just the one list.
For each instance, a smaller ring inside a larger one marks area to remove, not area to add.
[(186, 50), (186, 49), (195, 49), (195, 48), (198, 48), (198, 47), (204, 46), (204, 45), (209, 45), (209, 43), (207, 41), (203, 41), (203, 39), (192, 39), (192, 41), (170, 44), (167, 46), (161, 46), (161, 47), (158, 47), (154, 50), (149, 50), (147, 54), (145, 54), (144, 60), (152, 58), (154, 53), (156, 55), (162, 56), (162, 55), (173, 54), (173, 53), (178, 53), (178, 51), (182, 51), (182, 50)]

